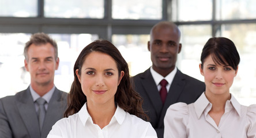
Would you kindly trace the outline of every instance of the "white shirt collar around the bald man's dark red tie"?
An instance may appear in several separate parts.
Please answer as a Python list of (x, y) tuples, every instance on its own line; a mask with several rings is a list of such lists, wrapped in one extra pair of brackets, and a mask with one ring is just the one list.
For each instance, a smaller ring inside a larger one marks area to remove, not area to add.
[(174, 76), (177, 72), (177, 68), (175, 67), (174, 70), (172, 72), (170, 72), (170, 74), (168, 74), (167, 76), (163, 77), (162, 75), (160, 75), (159, 73), (157, 73), (155, 70), (153, 70), (152, 66), (150, 67), (150, 72), (153, 76), (153, 79), (155, 80), (155, 83), (156, 83), (156, 86), (157, 86), (157, 89), (158, 91), (160, 91), (161, 89), (161, 85), (160, 85), (160, 82), (165, 79), (168, 84), (166, 85), (166, 89), (167, 89), (167, 93), (170, 89), (170, 86), (172, 84), (172, 81), (174, 80)]

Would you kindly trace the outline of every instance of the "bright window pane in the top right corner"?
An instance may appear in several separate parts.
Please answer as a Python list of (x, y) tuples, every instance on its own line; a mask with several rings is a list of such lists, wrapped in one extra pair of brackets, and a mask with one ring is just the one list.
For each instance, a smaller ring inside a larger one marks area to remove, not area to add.
[(217, 20), (238, 20), (256, 18), (255, 0), (217, 0)]

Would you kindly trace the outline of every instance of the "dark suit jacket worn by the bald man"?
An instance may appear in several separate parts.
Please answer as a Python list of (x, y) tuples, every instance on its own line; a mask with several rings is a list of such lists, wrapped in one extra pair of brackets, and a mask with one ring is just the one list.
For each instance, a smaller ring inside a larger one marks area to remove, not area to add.
[(157, 137), (163, 137), (164, 116), (167, 108), (176, 102), (190, 104), (205, 91), (205, 83), (177, 70), (170, 86), (164, 105), (150, 68), (145, 72), (133, 76), (135, 90), (143, 98), (142, 108), (148, 114), (150, 123), (157, 132)]

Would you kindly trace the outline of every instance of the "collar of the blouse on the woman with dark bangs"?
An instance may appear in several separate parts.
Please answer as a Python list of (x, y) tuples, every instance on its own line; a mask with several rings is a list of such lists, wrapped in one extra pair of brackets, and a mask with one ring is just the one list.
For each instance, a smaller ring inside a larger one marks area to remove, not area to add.
[[(194, 102), (195, 113), (199, 119), (202, 116), (202, 113), (208, 113), (212, 109), (212, 104), (206, 98), (205, 93), (202, 93), (201, 96)], [(241, 115), (240, 104), (236, 101), (235, 97), (231, 94), (231, 99), (228, 100), (225, 104), (225, 112), (235, 109), (238, 115)]]

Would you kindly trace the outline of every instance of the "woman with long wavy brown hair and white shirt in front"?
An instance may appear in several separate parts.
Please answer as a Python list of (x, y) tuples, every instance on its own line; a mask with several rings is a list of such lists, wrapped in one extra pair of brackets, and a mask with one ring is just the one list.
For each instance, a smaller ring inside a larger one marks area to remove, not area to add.
[(67, 102), (66, 118), (48, 137), (157, 137), (151, 124), (141, 119), (147, 116), (125, 59), (107, 40), (82, 49)]

